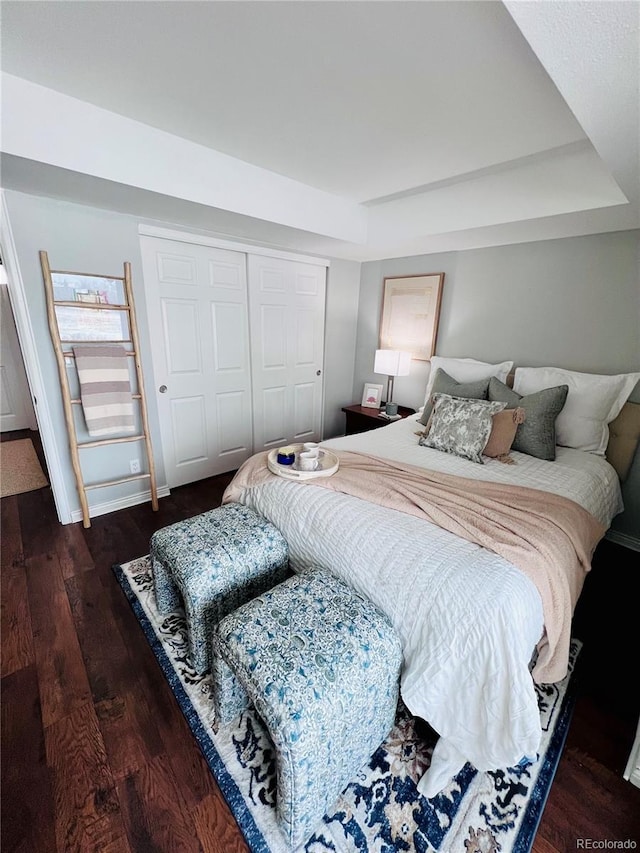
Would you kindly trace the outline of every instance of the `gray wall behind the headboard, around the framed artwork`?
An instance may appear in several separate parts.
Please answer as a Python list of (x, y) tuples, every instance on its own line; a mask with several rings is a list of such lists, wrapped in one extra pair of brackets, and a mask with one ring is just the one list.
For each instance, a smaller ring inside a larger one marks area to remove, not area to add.
[[(593, 373), (640, 370), (640, 232), (597, 234), (364, 263), (353, 399), (373, 373), (385, 276), (444, 272), (436, 353)], [(429, 366), (412, 362), (394, 400), (422, 405)], [(640, 387), (632, 400), (640, 402)], [(640, 453), (614, 527), (640, 539)]]

